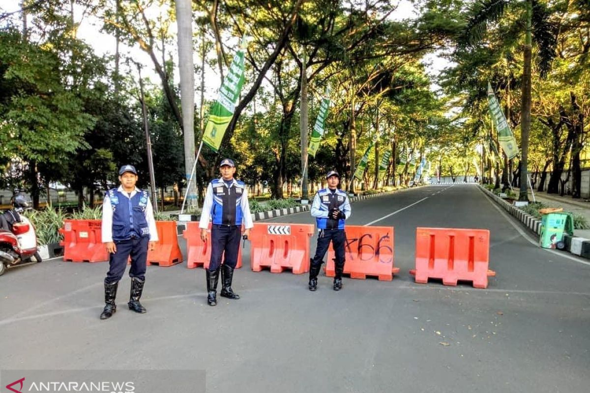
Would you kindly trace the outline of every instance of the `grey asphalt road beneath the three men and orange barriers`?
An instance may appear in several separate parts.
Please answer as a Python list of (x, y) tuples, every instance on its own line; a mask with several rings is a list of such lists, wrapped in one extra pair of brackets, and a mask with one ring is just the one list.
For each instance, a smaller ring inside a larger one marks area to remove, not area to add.
[[(126, 277), (119, 311), (100, 321), (106, 263), (11, 269), (0, 278), (0, 369), (200, 369), (208, 392), (588, 389), (590, 264), (533, 245), (475, 186), (421, 187), (352, 212), (348, 224), (395, 227), (391, 282), (345, 278), (335, 292), (322, 275), (309, 292), (307, 275), (251, 272), (247, 245), (234, 277), (242, 299), (209, 307), (203, 269), (150, 266), (148, 313), (124, 308)], [(309, 212), (269, 221), (313, 223)], [(415, 284), (418, 226), (489, 229), (488, 288)]]

